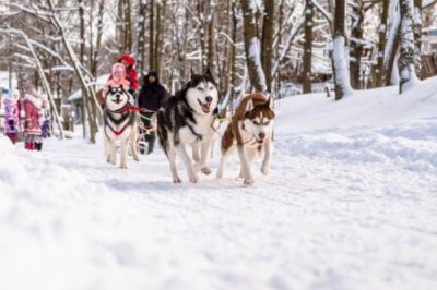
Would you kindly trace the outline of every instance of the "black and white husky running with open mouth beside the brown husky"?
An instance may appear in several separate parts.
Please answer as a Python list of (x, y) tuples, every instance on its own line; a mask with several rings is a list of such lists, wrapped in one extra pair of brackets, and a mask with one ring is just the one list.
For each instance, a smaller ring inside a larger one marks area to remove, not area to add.
[[(168, 98), (164, 108), (157, 114), (157, 135), (170, 164), (173, 182), (180, 183), (176, 170), (176, 156), (184, 161), (190, 182), (197, 183), (200, 170), (210, 174), (206, 167), (211, 137), (215, 131), (212, 126), (217, 116), (218, 89), (210, 72), (193, 74), (184, 89)], [(192, 147), (191, 157), (187, 145)], [(200, 150), (200, 158), (199, 158)]]

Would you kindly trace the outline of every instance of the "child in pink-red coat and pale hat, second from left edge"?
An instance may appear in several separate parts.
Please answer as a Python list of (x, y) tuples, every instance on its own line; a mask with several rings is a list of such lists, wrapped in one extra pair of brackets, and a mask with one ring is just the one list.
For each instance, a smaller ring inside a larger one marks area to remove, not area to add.
[(23, 101), (24, 134), (26, 136), (24, 148), (28, 150), (37, 149), (36, 144), (40, 144), (42, 123), (44, 121), (42, 106), (43, 100), (39, 94), (33, 87), (28, 88)]

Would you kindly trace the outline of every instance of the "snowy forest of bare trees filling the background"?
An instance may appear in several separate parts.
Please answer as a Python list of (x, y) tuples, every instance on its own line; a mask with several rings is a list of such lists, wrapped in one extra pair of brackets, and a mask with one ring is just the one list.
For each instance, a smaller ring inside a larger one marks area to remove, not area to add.
[[(32, 83), (55, 118), (81, 89), (91, 141), (96, 80), (121, 53), (170, 93), (209, 68), (227, 108), (246, 92), (276, 98), (332, 88), (402, 88), (436, 74), (435, 0), (3, 0), (0, 71)], [(321, 84), (321, 86), (320, 86)]]

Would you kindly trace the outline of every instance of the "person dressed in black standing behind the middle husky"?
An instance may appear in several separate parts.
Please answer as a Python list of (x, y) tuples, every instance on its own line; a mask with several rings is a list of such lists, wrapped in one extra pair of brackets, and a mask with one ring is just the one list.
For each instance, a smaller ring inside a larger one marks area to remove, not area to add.
[[(160, 84), (156, 71), (151, 71), (144, 76), (144, 84), (141, 87), (140, 96), (138, 97), (138, 106), (144, 111), (141, 112), (142, 121), (147, 131), (144, 141), (149, 143), (147, 154), (153, 152), (156, 140), (155, 130), (152, 125), (152, 117), (164, 104), (167, 96), (167, 90)], [(144, 149), (140, 148), (140, 153), (144, 154)]]

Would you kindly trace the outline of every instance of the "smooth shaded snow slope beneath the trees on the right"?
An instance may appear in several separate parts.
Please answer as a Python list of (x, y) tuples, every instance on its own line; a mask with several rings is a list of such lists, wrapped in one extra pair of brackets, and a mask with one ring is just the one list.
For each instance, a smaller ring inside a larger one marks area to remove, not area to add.
[(288, 133), (392, 124), (437, 118), (437, 77), (399, 95), (399, 87), (354, 90), (335, 101), (326, 94), (285, 98), (276, 104), (277, 130)]

